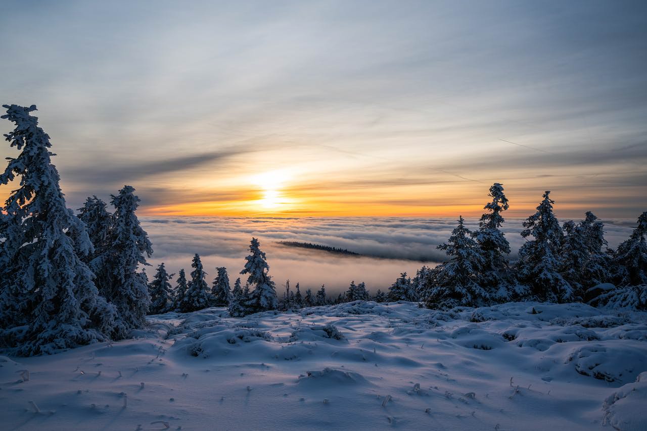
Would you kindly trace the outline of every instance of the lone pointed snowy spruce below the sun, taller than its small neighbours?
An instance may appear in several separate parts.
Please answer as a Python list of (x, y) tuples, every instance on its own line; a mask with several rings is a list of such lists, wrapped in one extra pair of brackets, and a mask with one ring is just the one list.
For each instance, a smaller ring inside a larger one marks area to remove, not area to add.
[(245, 268), (241, 274), (248, 274), (247, 282), (254, 286), (254, 290), (245, 302), (246, 313), (257, 313), (258, 311), (276, 310), (278, 301), (276, 299), (276, 288), (272, 278), (267, 274), (270, 266), (265, 260), (265, 253), (261, 251), (260, 244), (256, 238), (252, 238), (249, 246), (250, 255), (245, 257)]

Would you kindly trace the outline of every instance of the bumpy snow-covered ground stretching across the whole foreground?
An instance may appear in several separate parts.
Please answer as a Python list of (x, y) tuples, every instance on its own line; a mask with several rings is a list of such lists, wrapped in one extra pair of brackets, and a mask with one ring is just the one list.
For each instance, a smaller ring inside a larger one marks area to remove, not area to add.
[(0, 357), (0, 427), (647, 429), (647, 313), (461, 310), (351, 302), (152, 316), (137, 339)]

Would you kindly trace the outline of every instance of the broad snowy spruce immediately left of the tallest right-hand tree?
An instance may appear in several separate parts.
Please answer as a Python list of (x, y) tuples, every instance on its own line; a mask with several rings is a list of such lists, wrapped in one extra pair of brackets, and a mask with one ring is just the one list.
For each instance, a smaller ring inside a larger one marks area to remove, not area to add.
[(451, 260), (438, 267), (435, 284), (425, 292), (425, 305), (447, 310), (455, 306), (476, 307), (485, 304), (488, 293), (478, 284), (483, 257), (462, 216), (459, 216), (458, 226), (452, 231), (448, 242), (438, 248), (444, 250)]

